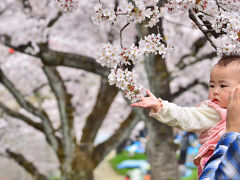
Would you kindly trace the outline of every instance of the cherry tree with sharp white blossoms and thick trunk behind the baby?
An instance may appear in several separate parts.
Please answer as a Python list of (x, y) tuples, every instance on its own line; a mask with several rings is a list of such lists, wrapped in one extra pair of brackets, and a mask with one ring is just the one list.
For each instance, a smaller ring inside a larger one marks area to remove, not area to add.
[[(111, 74), (109, 75), (109, 83), (116, 84), (117, 87), (125, 90), (126, 97), (135, 102), (138, 101), (140, 97), (144, 96), (144, 93), (142, 92), (144, 89), (141, 86), (138, 88), (139, 85), (132, 85), (131, 82), (135, 81), (132, 79), (129, 81), (126, 72), (124, 77), (124, 73), (122, 72), (123, 70), (128, 71), (128, 69), (126, 67), (124, 68), (122, 64), (134, 65), (136, 63), (135, 57), (139, 59), (139, 56), (146, 54), (146, 52), (151, 53), (151, 55), (145, 55), (145, 66), (150, 88), (154, 94), (160, 96), (161, 98), (173, 100), (174, 94), (171, 94), (170, 92), (171, 77), (169, 75), (169, 71), (165, 62), (160, 62), (165, 59), (166, 54), (169, 53), (167, 44), (170, 42), (165, 38), (165, 34), (168, 32), (164, 31), (164, 18), (167, 17), (166, 11), (170, 14), (178, 13), (181, 15), (188, 15), (189, 19), (204, 34), (204, 39), (200, 38), (199, 42), (206, 42), (207, 40), (211, 47), (215, 50), (215, 52), (210, 52), (204, 56), (204, 58), (209, 58), (215, 56), (216, 53), (219, 55), (229, 55), (239, 52), (239, 5), (239, 1), (227, 0), (134, 0), (127, 2), (126, 5), (120, 5), (117, 10), (113, 10), (111, 8), (103, 8), (100, 4), (95, 8), (96, 16), (93, 17), (96, 24), (99, 24), (102, 20), (107, 20), (116, 24), (118, 21), (122, 21), (122, 18), (119, 18), (120, 16), (125, 16), (126, 25), (124, 25), (120, 30), (121, 49), (119, 50), (119, 53), (116, 53), (116, 51), (118, 51), (116, 50), (117, 48), (111, 47), (110, 44), (105, 47), (102, 46), (105, 50), (104, 52), (101, 50), (98, 62), (103, 66), (112, 68)], [(141, 35), (141, 40), (138, 42), (137, 47), (133, 44), (130, 48), (127, 48), (128, 51), (130, 51), (128, 53), (125, 52), (126, 48), (122, 45), (121, 33), (130, 23), (138, 23), (141, 24), (141, 26), (145, 24), (145, 27), (150, 27), (152, 29), (147, 29), (145, 31), (147, 33), (142, 33), (144, 30), (140, 28), (141, 30), (139, 33)], [(152, 34), (150, 38), (147, 36), (148, 34)], [(213, 39), (212, 36), (215, 39)], [(194, 44), (199, 45), (199, 42), (197, 41)], [(199, 48), (194, 49), (194, 54), (190, 56), (194, 56), (198, 51)], [(116, 56), (115, 54), (119, 54), (119, 56)], [(183, 56), (176, 65), (185, 64), (183, 60), (188, 56)], [(196, 63), (201, 59), (203, 58), (197, 58), (197, 60), (192, 61), (191, 63)], [(109, 66), (109, 64), (111, 65)], [(186, 65), (184, 65), (184, 67), (186, 67)], [(121, 68), (123, 70), (121, 70)], [(126, 83), (122, 85), (123, 82)], [(189, 84), (188, 87), (192, 87), (198, 83), (199, 81), (195, 80)], [(132, 86), (137, 88), (132, 88)], [(176, 94), (181, 94), (183, 89), (185, 88), (180, 88)], [(130, 91), (130, 93), (128, 91)], [(151, 137), (151, 140), (149, 141), (148, 155), (151, 168), (153, 170), (153, 179), (158, 179), (159, 177), (163, 177), (162, 179), (172, 179), (173, 177), (173, 179), (178, 178), (176, 172), (174, 171), (170, 172), (164, 168), (164, 170), (161, 169), (161, 172), (158, 171), (160, 166), (164, 166), (162, 163), (164, 162), (164, 155), (162, 155), (159, 159), (156, 158), (161, 156), (161, 153), (170, 154), (170, 152), (173, 152), (173, 148), (171, 148), (170, 143), (171, 138), (168, 139), (172, 136), (171, 129), (158, 125), (156, 121), (147, 121), (146, 124), (148, 125)], [(156, 145), (158, 140), (162, 142), (162, 145)], [(169, 159), (169, 157), (173, 156), (173, 153), (169, 156), (165, 156), (165, 161), (171, 163), (171, 166), (166, 165), (167, 169), (176, 169), (176, 163), (174, 163), (174, 160), (171, 158)]]

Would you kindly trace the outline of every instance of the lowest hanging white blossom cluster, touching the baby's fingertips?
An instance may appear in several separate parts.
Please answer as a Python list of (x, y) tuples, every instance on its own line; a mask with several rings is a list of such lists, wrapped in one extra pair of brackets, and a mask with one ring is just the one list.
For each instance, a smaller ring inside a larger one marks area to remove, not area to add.
[(108, 76), (108, 82), (110, 85), (116, 84), (116, 87), (122, 89), (125, 97), (132, 102), (137, 102), (146, 95), (143, 86), (137, 84), (134, 71), (131, 72), (128, 69), (121, 68), (112, 69)]

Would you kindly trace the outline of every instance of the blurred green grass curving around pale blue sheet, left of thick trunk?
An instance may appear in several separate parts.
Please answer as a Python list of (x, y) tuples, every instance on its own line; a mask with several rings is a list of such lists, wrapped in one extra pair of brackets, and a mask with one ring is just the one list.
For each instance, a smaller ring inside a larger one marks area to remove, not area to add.
[(132, 168), (117, 169), (117, 165), (120, 164), (122, 161), (129, 159), (146, 160), (147, 155), (144, 153), (135, 153), (134, 155), (130, 155), (127, 151), (124, 151), (120, 154), (117, 154), (114, 158), (110, 159), (109, 162), (117, 173), (127, 175), (127, 171), (131, 170)]

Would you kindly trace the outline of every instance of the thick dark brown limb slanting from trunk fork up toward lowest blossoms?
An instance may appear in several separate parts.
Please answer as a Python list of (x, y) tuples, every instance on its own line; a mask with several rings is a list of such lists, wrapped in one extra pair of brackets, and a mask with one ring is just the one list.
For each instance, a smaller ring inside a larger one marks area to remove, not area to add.
[(96, 103), (86, 119), (80, 143), (91, 144), (94, 142), (98, 129), (101, 127), (117, 93), (118, 89), (115, 86), (110, 86), (108, 80), (102, 78)]

